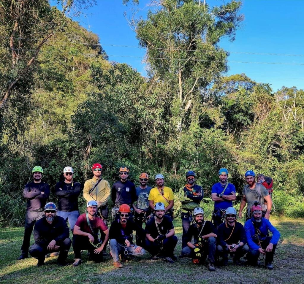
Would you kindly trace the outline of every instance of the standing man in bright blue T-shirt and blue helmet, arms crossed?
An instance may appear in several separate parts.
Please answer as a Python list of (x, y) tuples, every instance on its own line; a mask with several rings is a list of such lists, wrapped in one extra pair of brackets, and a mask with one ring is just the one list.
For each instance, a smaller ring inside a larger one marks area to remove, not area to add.
[(232, 207), (232, 201), (236, 200), (236, 190), (232, 183), (228, 183), (228, 170), (219, 170), (219, 183), (212, 186), (211, 198), (214, 201), (214, 211), (212, 214), (213, 224), (216, 228), (223, 223), (224, 212), (228, 207)]

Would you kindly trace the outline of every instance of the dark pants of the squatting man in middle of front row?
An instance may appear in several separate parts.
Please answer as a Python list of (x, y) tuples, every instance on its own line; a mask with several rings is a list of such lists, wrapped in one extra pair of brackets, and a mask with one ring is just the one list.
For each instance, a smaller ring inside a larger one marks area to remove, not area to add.
[(145, 249), (150, 252), (151, 255), (157, 255), (162, 253), (163, 257), (171, 257), (174, 254), (174, 248), (177, 244), (177, 237), (172, 236), (165, 238), (163, 244), (160, 246), (155, 242), (146, 240)]

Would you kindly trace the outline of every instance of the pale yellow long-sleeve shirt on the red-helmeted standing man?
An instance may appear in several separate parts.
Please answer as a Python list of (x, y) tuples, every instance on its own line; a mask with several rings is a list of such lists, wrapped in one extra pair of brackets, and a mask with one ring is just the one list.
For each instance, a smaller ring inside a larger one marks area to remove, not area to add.
[(100, 201), (100, 207), (104, 206), (108, 203), (110, 199), (110, 184), (106, 180), (101, 180), (98, 185), (94, 188), (90, 195), (89, 191), (95, 186), (98, 182), (95, 176), (91, 180), (86, 180), (85, 185), (83, 187), (83, 197), (87, 201), (96, 200), (97, 202)]

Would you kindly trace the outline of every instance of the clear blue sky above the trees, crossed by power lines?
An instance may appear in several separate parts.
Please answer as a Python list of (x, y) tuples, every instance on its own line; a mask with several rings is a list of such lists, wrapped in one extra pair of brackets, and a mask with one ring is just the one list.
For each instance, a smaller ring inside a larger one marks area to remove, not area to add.
[[(122, 0), (97, 0), (98, 5), (86, 11), (80, 24), (97, 33), (109, 60), (127, 63), (146, 75), (143, 56), (145, 50), (138, 48), (135, 33), (123, 15), (130, 13), (132, 5), (124, 6)], [(148, 0), (140, 0), (138, 15), (147, 14)], [(210, 1), (206, 0), (210, 3)], [(212, 0), (220, 5), (219, 0)], [(229, 62), (227, 75), (245, 73), (257, 82), (270, 83), (274, 91), (283, 85), (304, 88), (304, 29), (301, 11), (304, 1), (245, 0), (241, 8), (245, 20), (237, 31), (236, 40), (223, 39), (220, 46), (231, 53), (229, 61), (300, 63), (303, 65), (256, 64)], [(119, 47), (111, 45), (136, 46)], [(241, 52), (241, 53), (238, 53)], [(302, 56), (278, 56), (243, 53), (295, 54)], [(116, 55), (116, 56), (115, 56)], [(123, 57), (138, 56), (140, 58)]]

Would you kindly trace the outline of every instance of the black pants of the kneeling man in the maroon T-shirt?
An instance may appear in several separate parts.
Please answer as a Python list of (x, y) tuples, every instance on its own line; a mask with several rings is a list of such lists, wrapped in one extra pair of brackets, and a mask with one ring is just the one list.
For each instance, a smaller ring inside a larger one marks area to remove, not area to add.
[[(98, 240), (95, 239), (94, 244), (97, 244)], [(96, 254), (94, 252), (96, 248), (90, 243), (89, 238), (86, 236), (74, 235), (73, 236), (73, 250), (75, 258), (81, 259), (81, 251), (88, 250), (90, 253), (90, 258), (94, 262), (102, 262), (102, 252)]]

